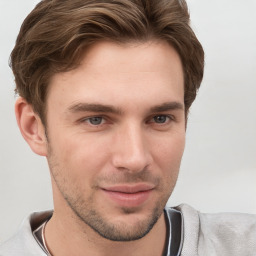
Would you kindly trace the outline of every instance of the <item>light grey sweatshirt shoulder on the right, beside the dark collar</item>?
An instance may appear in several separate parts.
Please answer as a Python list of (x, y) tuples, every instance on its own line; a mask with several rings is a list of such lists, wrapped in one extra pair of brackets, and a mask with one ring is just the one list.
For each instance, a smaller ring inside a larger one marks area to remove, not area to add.
[(182, 255), (255, 255), (256, 215), (206, 214), (188, 205), (176, 208), (181, 211), (184, 222)]

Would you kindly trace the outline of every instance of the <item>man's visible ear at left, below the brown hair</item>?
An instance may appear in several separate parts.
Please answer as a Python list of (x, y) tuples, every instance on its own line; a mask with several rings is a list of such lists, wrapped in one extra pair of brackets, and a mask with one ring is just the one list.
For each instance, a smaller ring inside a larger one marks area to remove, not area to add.
[(22, 97), (16, 100), (15, 115), (20, 132), (30, 148), (38, 155), (47, 156), (44, 125), (32, 106)]

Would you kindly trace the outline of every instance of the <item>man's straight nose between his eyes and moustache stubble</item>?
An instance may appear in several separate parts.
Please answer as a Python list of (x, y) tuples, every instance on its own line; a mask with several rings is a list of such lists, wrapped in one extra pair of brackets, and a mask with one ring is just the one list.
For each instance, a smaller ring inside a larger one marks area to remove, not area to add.
[(147, 136), (139, 125), (127, 125), (115, 135), (113, 165), (120, 170), (139, 172), (151, 163)]

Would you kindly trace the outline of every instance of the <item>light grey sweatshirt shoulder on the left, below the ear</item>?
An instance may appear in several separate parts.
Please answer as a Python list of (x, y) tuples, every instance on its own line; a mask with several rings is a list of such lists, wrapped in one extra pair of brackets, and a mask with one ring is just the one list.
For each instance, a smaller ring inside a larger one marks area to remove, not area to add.
[(27, 217), (18, 232), (0, 245), (1, 256), (45, 256), (33, 237), (32, 229), (51, 216), (52, 212), (32, 213)]

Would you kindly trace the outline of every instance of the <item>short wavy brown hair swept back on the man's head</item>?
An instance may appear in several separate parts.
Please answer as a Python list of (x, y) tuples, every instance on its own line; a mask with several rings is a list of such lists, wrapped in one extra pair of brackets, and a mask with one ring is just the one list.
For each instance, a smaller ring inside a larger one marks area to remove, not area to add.
[(187, 114), (204, 70), (204, 51), (189, 23), (185, 0), (43, 0), (24, 20), (11, 53), (16, 92), (45, 123), (50, 78), (75, 68), (87, 46), (160, 39), (180, 55)]

